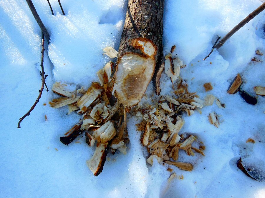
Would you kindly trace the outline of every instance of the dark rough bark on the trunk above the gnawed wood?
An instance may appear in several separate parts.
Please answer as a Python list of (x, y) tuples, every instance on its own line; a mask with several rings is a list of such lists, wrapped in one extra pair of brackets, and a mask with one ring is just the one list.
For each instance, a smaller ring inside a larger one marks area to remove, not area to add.
[[(164, 0), (129, 0), (124, 28), (118, 51), (117, 63), (125, 53), (143, 54), (140, 49), (131, 45), (133, 38), (146, 38), (151, 40), (157, 47), (155, 55), (155, 82), (157, 72), (161, 66), (163, 57), (163, 9)], [(156, 83), (154, 83), (156, 85)]]

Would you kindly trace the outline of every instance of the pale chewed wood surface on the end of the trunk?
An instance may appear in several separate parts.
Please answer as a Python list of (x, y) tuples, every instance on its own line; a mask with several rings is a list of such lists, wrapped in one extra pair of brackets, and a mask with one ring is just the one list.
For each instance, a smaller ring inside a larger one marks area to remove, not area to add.
[(140, 53), (126, 53), (118, 61), (114, 94), (127, 107), (136, 105), (151, 81), (155, 70), (155, 45), (144, 38), (132, 39), (131, 45)]

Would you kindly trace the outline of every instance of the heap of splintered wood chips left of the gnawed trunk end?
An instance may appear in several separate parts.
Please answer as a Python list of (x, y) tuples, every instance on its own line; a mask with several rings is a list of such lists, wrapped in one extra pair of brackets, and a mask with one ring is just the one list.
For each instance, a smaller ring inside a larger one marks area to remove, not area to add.
[[(113, 48), (108, 47), (104, 51), (110, 57), (117, 56)], [(123, 120), (124, 108), (110, 92), (112, 69), (112, 63), (108, 62), (97, 72), (100, 84), (93, 82), (87, 90), (81, 87), (70, 92), (65, 84), (59, 82), (52, 88), (54, 93), (62, 97), (53, 99), (51, 107), (68, 105), (69, 114), (76, 111), (82, 115), (80, 123), (74, 125), (60, 140), (68, 145), (85, 132), (86, 143), (91, 147), (96, 146), (92, 158), (87, 161), (87, 166), (95, 176), (102, 171), (109, 150), (112, 154), (118, 150), (125, 155), (126, 143), (129, 141)]]

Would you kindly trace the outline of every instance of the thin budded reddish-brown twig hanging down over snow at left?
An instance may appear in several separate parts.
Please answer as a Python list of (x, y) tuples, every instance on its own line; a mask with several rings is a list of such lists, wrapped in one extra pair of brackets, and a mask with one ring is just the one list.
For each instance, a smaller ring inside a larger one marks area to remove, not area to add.
[[(21, 118), (19, 118), (19, 123), (17, 125), (17, 128), (20, 128), (20, 123), (27, 117), (29, 116), (29, 114), (32, 112), (32, 110), (35, 108), (35, 106), (37, 105), (37, 103), (39, 102), (39, 99), (42, 97), (42, 91), (44, 89), (44, 85), (46, 86), (46, 83), (45, 83), (45, 79), (48, 75), (45, 75), (45, 72), (44, 72), (44, 67), (43, 67), (43, 57), (44, 57), (44, 33), (42, 33), (42, 60), (41, 60), (41, 68), (42, 68), (42, 71), (40, 71), (40, 75), (42, 76), (42, 87), (41, 89), (39, 90), (39, 96), (37, 97), (36, 101), (34, 102), (34, 104), (32, 105), (32, 107), (29, 109), (29, 111)], [(46, 89), (47, 89), (47, 92), (49, 91), (48, 90), (48, 87), (46, 86)]]

